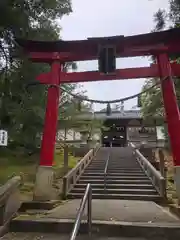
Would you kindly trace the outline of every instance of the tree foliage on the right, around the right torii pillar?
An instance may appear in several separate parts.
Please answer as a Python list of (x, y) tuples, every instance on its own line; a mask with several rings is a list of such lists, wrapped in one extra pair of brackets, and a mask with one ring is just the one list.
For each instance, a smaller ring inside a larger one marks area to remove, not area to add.
[[(155, 31), (161, 31), (165, 28), (179, 27), (180, 22), (180, 1), (170, 0), (169, 10), (159, 9), (154, 15)], [(171, 60), (179, 60), (179, 56), (174, 56)], [(174, 78), (178, 105), (180, 106), (180, 81)], [(150, 79), (145, 82), (143, 89), (152, 86), (157, 79)], [(164, 106), (160, 86), (157, 86), (143, 94), (141, 97), (142, 114), (144, 117), (162, 116), (164, 117)], [(168, 138), (167, 127), (165, 126), (165, 137)]]

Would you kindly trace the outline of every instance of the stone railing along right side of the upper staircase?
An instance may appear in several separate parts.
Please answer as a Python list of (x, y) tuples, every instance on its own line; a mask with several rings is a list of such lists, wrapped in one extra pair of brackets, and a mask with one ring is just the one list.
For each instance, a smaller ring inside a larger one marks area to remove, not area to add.
[(153, 165), (140, 153), (140, 151), (134, 146), (134, 144), (129, 144), (133, 148), (133, 154), (138, 160), (140, 166), (145, 171), (147, 176), (152, 181), (152, 184), (158, 191), (161, 197), (166, 198), (166, 180), (161, 175), (159, 171), (153, 167)]

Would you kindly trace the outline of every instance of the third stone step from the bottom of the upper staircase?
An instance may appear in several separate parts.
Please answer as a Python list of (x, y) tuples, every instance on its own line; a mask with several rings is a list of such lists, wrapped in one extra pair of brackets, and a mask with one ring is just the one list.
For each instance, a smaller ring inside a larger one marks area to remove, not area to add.
[[(86, 188), (87, 184), (77, 183), (74, 188)], [(92, 188), (103, 188), (103, 184), (91, 184)], [(152, 184), (106, 184), (109, 189), (154, 189)]]

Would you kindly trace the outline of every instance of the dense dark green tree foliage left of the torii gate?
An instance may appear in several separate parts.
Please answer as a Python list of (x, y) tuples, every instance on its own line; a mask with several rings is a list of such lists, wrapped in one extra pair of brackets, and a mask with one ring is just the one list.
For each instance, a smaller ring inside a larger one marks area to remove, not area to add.
[[(47, 87), (27, 89), (27, 84), (49, 70), (48, 65), (34, 64), (21, 55), (15, 38), (57, 40), (60, 26), (56, 20), (71, 11), (70, 0), (0, 1), (0, 127), (8, 130), (9, 147), (33, 150), (39, 146)], [(63, 93), (62, 101), (64, 97)]]

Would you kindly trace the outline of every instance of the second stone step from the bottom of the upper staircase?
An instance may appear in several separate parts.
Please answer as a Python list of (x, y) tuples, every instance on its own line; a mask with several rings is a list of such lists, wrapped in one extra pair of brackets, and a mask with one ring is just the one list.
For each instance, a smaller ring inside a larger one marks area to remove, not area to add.
[[(73, 188), (71, 193), (84, 193), (84, 188)], [(140, 195), (155, 195), (155, 189), (111, 189), (111, 188), (92, 188), (93, 193), (98, 194), (140, 194)]]

